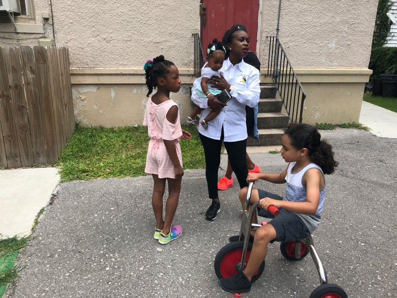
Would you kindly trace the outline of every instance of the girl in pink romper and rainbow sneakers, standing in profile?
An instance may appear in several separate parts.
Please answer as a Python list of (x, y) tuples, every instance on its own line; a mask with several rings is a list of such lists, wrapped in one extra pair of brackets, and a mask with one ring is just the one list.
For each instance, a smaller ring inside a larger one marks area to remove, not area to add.
[[(147, 126), (150, 137), (147, 149), (145, 172), (152, 174), (154, 185), (152, 207), (156, 218), (154, 239), (167, 244), (182, 234), (180, 225), (172, 225), (178, 207), (183, 176), (182, 153), (179, 140), (192, 139), (192, 135), (181, 128), (178, 105), (170, 99), (170, 92), (178, 92), (181, 79), (177, 67), (159, 56), (147, 61), (147, 97), (157, 87), (157, 92), (149, 98), (143, 125)], [(168, 198), (163, 220), (163, 195), (165, 182), (168, 182)]]

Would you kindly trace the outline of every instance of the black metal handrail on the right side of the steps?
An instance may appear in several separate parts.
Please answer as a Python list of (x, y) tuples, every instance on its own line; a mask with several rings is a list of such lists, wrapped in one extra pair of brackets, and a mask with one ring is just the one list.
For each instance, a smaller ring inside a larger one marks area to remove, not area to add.
[(270, 39), (267, 76), (273, 78), (289, 120), (296, 123), (299, 116), (299, 123), (302, 123), (306, 93), (278, 38), (276, 36), (266, 36), (266, 38)]

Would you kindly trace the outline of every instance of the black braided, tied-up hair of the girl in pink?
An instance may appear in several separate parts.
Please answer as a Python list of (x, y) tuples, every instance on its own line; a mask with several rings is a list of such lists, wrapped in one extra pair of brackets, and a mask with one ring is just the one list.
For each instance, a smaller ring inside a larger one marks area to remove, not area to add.
[(174, 65), (171, 61), (165, 60), (163, 55), (153, 59), (153, 61), (146, 62), (144, 66), (146, 74), (146, 86), (149, 89), (146, 97), (153, 92), (153, 88), (157, 87), (157, 78), (164, 77), (169, 72), (169, 68)]

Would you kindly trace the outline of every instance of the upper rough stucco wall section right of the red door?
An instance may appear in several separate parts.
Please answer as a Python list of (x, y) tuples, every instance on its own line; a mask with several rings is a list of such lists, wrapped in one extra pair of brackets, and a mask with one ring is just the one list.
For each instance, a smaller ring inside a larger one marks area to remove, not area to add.
[[(377, 0), (282, 1), (279, 39), (294, 68), (368, 68)], [(278, 0), (262, 3), (261, 61), (277, 27)]]

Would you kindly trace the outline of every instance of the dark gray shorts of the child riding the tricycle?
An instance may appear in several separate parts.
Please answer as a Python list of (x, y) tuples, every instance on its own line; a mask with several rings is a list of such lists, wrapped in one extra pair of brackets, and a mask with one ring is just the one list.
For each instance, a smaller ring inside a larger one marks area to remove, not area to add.
[[(258, 189), (259, 198), (270, 198), (274, 200), (282, 200), (283, 198), (272, 194), (270, 192)], [(306, 224), (299, 218), (295, 212), (291, 212), (285, 209), (280, 209), (280, 214), (274, 217), (270, 212), (265, 211), (262, 208), (258, 208), (258, 215), (266, 218), (273, 219), (270, 221), (274, 229), (276, 230), (277, 237), (273, 241), (280, 242), (293, 242), (296, 240), (304, 239), (310, 235)], [(271, 241), (271, 242), (273, 242)]]

